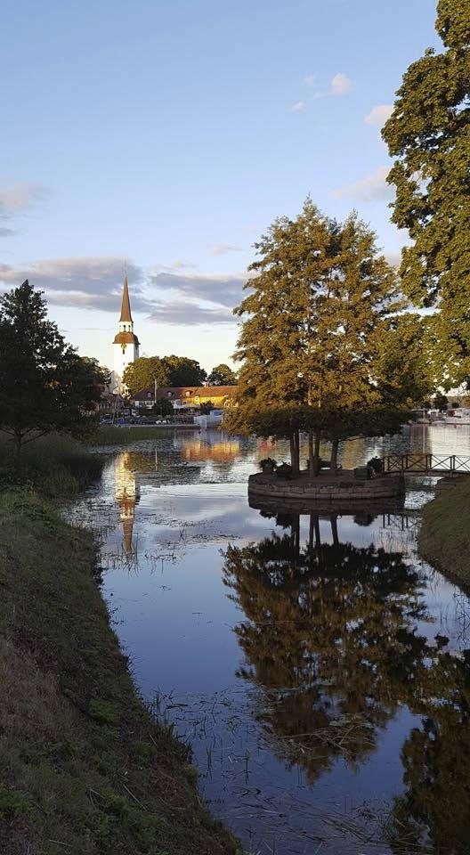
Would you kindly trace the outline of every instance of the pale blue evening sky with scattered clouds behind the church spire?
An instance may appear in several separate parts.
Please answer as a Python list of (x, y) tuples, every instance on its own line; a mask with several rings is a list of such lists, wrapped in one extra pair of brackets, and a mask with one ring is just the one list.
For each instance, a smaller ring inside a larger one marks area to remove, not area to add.
[(435, 0), (3, 0), (0, 290), (28, 278), (112, 364), (125, 265), (141, 355), (231, 363), (254, 243), (307, 194), (393, 261), (380, 127)]

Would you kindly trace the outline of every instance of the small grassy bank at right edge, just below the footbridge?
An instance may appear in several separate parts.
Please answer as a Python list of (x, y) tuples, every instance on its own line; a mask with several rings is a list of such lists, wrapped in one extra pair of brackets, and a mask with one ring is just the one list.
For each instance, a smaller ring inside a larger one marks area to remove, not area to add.
[(425, 561), (470, 588), (470, 476), (446, 479), (425, 505), (418, 549)]

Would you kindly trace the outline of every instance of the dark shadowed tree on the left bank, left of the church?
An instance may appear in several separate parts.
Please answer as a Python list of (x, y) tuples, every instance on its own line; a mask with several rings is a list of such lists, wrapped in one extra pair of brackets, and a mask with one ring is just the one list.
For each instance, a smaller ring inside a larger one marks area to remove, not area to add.
[(82, 434), (107, 379), (67, 344), (28, 280), (0, 298), (0, 430), (18, 455), (52, 430)]

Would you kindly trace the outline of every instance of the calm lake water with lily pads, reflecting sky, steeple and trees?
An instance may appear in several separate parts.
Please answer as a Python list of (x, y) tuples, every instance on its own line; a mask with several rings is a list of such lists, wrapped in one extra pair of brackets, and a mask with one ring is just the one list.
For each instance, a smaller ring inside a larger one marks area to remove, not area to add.
[[(470, 433), (354, 440), (343, 463), (422, 450), (470, 455)], [(417, 558), (435, 478), (400, 511), (276, 518), (247, 504), (268, 454), (287, 446), (168, 433), (110, 452), (71, 510), (101, 533), (134, 679), (247, 851), (464, 855), (470, 603)]]

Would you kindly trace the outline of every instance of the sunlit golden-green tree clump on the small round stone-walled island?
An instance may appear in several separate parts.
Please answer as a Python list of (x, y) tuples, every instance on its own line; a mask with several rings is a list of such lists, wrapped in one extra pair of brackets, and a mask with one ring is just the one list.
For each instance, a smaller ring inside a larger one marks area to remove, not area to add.
[[(344, 438), (346, 412), (360, 433), (355, 413), (390, 407), (381, 385), (384, 342), (402, 306), (396, 275), (355, 214), (337, 224), (311, 199), (295, 220), (276, 220), (255, 248), (249, 293), (235, 310), (246, 320), (229, 426), (290, 436), (295, 468), (298, 430), (309, 429), (313, 471), (320, 436), (332, 436), (338, 413)], [(401, 390), (396, 398), (402, 405)]]

